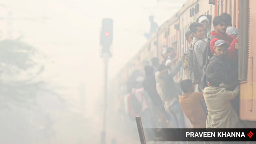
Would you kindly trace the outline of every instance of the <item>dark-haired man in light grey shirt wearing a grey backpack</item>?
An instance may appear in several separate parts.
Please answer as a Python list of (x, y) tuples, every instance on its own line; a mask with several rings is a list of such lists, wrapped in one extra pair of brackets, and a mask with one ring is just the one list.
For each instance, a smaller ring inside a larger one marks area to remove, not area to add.
[[(203, 40), (205, 37), (205, 31), (202, 24), (198, 22), (194, 22), (189, 26), (190, 31), (193, 34), (193, 40), (191, 42), (191, 48), (193, 49), (193, 58), (194, 63), (199, 69), (199, 74), (202, 76), (203, 74), (203, 53), (206, 48), (207, 43)], [(201, 78), (200, 78), (201, 79)], [(194, 84), (195, 80), (191, 79)], [(199, 89), (200, 91), (200, 89)]]

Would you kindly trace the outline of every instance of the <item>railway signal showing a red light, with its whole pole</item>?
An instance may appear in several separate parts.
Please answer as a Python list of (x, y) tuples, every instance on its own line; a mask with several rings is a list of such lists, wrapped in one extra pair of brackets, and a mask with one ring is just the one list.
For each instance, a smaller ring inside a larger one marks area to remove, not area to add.
[(100, 44), (101, 44), (101, 57), (105, 64), (105, 80), (104, 80), (104, 105), (103, 105), (103, 129), (101, 132), (101, 144), (106, 143), (106, 108), (108, 96), (108, 60), (112, 57), (110, 46), (113, 40), (113, 20), (109, 18), (102, 19)]

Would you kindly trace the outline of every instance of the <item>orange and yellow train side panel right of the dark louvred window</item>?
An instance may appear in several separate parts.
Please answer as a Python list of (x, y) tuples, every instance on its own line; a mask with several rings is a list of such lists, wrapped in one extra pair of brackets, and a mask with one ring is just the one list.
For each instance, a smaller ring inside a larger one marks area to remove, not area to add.
[[(245, 1), (243, 1), (245, 2)], [(255, 0), (249, 0), (249, 27), (248, 27), (248, 65), (246, 82), (240, 84), (240, 118), (242, 120), (256, 121), (256, 61), (255, 61), (255, 25), (256, 25)], [(240, 11), (243, 10), (240, 7)], [(242, 14), (242, 13), (241, 13)], [(239, 32), (240, 33), (240, 32)], [(239, 34), (240, 35), (240, 34)], [(241, 48), (241, 47), (239, 47)], [(242, 47), (243, 48), (243, 47)]]

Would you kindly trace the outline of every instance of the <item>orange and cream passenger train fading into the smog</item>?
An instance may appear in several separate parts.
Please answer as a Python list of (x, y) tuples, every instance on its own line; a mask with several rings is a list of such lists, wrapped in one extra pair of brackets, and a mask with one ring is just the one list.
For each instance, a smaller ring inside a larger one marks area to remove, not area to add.
[[(185, 38), (189, 25), (196, 22), (200, 15), (207, 15), (213, 20), (221, 13), (228, 13), (232, 17), (232, 26), (239, 30), (239, 49), (238, 49), (238, 79), (240, 82), (240, 112), (239, 118), (249, 127), (256, 128), (256, 5), (255, 0), (187, 0), (183, 6), (157, 31), (151, 36), (138, 53), (131, 58), (111, 81), (112, 91), (117, 95), (123, 94), (123, 85), (127, 83), (129, 76), (135, 70), (143, 71), (151, 58), (161, 57), (161, 50), (164, 46), (173, 47), (177, 52), (177, 57), (181, 59), (186, 52), (188, 43)], [(213, 26), (211, 26), (211, 30)], [(255, 36), (254, 36), (255, 35)], [(176, 75), (176, 78), (185, 78), (183, 69)], [(120, 96), (116, 96), (120, 98)], [(119, 102), (122, 102), (120, 100)], [(119, 107), (122, 104), (119, 104)]]

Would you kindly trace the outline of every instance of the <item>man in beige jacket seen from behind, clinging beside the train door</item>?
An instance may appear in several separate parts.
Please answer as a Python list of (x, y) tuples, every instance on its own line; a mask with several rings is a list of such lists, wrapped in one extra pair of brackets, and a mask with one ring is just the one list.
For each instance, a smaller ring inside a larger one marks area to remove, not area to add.
[(239, 85), (233, 91), (219, 87), (222, 83), (222, 76), (219, 73), (208, 75), (207, 83), (208, 87), (203, 91), (208, 109), (206, 128), (243, 128), (242, 122), (230, 104), (230, 100), (239, 93)]

